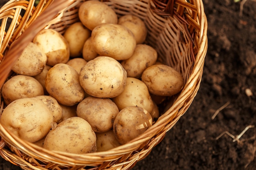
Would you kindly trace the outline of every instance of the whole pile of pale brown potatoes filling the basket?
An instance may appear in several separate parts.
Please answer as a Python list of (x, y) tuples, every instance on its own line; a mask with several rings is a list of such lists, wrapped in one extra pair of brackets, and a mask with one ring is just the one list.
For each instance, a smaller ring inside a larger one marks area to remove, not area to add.
[(147, 29), (137, 16), (118, 18), (89, 0), (79, 19), (63, 35), (41, 30), (24, 49), (12, 67), (17, 74), (2, 86), (7, 106), (0, 119), (21, 139), (78, 154), (142, 134), (159, 117), (157, 104), (184, 86), (144, 44)]

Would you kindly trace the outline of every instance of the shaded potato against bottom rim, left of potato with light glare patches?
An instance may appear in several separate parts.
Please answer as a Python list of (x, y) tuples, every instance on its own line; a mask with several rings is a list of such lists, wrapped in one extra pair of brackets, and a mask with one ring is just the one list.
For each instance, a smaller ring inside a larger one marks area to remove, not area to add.
[(113, 130), (107, 132), (96, 133), (97, 152), (107, 151), (117, 146), (120, 146)]

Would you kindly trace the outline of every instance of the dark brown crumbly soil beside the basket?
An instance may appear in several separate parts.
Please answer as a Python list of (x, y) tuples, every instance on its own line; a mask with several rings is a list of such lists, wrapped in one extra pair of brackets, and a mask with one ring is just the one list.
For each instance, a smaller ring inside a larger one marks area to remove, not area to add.
[[(198, 95), (160, 144), (132, 170), (255, 170), (256, 1), (203, 0), (208, 53)], [(245, 1), (244, 1), (245, 2)], [(226, 106), (224, 106), (227, 104)], [(222, 106), (218, 115), (214, 113)], [(20, 170), (0, 159), (0, 170)]]

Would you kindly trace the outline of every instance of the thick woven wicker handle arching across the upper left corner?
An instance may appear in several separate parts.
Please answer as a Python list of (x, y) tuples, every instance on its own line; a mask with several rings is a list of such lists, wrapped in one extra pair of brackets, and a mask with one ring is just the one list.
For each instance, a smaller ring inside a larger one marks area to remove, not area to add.
[(18, 59), (23, 49), (31, 42), (34, 36), (45, 27), (47, 22), (52, 20), (56, 15), (66, 7), (68, 7), (74, 0), (54, 0), (41, 15), (20, 35), (20, 37), (13, 41), (9, 51), (0, 63), (0, 88), (7, 79), (13, 63)]

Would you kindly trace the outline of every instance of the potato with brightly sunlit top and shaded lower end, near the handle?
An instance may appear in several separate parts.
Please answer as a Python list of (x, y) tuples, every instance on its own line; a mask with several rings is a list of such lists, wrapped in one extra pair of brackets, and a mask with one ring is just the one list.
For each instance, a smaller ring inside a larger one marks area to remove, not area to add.
[(46, 54), (46, 64), (49, 66), (66, 63), (70, 58), (70, 49), (67, 40), (54, 29), (43, 29), (39, 31), (34, 37), (33, 42)]

